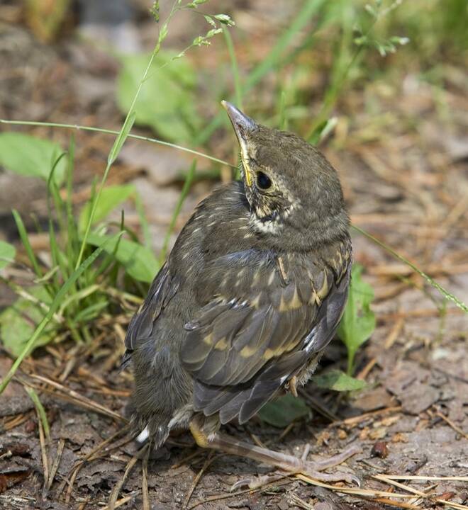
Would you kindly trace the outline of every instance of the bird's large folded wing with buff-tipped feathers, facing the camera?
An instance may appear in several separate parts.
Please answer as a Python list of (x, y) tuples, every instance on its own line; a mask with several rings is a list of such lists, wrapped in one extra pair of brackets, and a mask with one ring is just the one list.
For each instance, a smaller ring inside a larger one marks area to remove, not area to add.
[(329, 265), (296, 256), (227, 271), (221, 295), (186, 324), (181, 359), (196, 380), (196, 409), (219, 411), (223, 422), (238, 409), (246, 421), (325, 347), (345, 305), (350, 258), (340, 248)]

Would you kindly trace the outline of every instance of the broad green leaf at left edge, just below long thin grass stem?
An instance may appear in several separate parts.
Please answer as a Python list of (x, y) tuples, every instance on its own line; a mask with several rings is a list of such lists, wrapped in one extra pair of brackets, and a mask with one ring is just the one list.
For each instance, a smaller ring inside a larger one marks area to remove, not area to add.
[[(52, 166), (63, 150), (60, 145), (23, 133), (0, 133), (0, 164), (15, 174), (48, 180)], [(54, 172), (54, 180), (62, 183), (67, 162), (61, 159)]]

